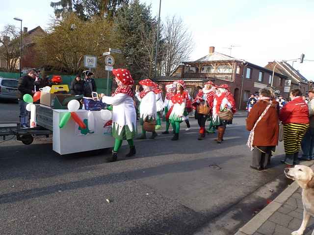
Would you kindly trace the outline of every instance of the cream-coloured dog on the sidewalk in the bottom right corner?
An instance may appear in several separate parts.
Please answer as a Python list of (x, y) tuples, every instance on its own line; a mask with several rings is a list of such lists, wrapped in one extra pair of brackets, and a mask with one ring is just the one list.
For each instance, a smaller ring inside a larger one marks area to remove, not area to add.
[(309, 166), (295, 165), (293, 168), (285, 168), (285, 174), (302, 188), (303, 220), (300, 228), (291, 235), (303, 235), (310, 217), (314, 216), (314, 171)]

